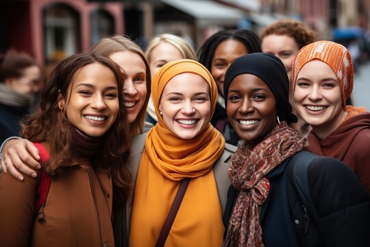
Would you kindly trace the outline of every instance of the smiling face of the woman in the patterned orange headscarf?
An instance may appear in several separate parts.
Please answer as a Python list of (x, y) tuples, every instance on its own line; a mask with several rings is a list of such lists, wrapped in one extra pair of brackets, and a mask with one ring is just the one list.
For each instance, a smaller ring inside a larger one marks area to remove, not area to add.
[(338, 79), (320, 60), (307, 62), (299, 71), (294, 101), (299, 115), (321, 139), (338, 128), (346, 115)]

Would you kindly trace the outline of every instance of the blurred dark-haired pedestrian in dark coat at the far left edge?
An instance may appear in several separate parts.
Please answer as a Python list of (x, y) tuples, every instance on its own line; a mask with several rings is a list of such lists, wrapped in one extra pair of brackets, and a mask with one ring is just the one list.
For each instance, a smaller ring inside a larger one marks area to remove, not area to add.
[(19, 136), (19, 121), (30, 113), (41, 82), (41, 70), (25, 53), (8, 51), (0, 62), (0, 143)]

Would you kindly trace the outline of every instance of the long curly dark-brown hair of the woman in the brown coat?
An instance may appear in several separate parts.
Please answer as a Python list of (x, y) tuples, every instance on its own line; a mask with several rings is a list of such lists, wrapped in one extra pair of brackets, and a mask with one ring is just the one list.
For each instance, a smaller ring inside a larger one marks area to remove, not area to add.
[[(79, 69), (88, 64), (99, 63), (108, 67), (116, 78), (119, 90), (119, 113), (110, 129), (101, 137), (101, 148), (93, 158), (94, 167), (108, 168), (112, 174), (112, 179), (116, 187), (125, 189), (130, 188), (132, 174), (127, 167), (127, 157), (131, 152), (131, 137), (127, 124), (126, 108), (123, 102), (123, 82), (125, 75), (121, 68), (109, 58), (93, 53), (77, 54), (66, 58), (58, 64), (51, 73), (51, 78), (42, 89), (40, 105), (38, 110), (23, 123), (21, 131), (22, 137), (33, 142), (45, 142), (49, 145), (50, 159), (49, 164), (45, 164), (45, 170), (49, 174), (58, 172), (59, 169), (71, 164), (73, 152), (71, 152), (72, 126), (66, 117), (65, 110), (60, 110), (58, 97), (70, 97), (68, 93), (69, 85), (73, 82), (73, 77)], [(119, 196), (119, 195), (117, 195)]]

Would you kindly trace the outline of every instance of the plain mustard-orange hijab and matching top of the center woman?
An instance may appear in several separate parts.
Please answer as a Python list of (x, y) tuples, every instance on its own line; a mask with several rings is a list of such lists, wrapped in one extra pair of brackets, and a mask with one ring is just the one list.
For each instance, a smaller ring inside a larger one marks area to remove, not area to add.
[[(211, 124), (194, 139), (175, 136), (159, 114), (166, 84), (180, 73), (200, 75), (210, 86), (211, 115), (217, 104), (217, 85), (209, 71), (194, 60), (165, 64), (151, 82), (158, 123), (145, 140), (132, 211), (130, 246), (154, 246), (183, 178), (193, 178), (175, 217), (165, 246), (221, 246), (222, 212), (212, 167), (225, 140)], [(184, 82), (186, 83), (186, 82)], [(210, 119), (209, 119), (210, 120)]]

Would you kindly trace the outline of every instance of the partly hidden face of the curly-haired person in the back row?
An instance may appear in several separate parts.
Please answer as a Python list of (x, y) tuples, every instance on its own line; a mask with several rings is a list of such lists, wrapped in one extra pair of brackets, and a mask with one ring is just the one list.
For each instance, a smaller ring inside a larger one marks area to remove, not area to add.
[(285, 66), (288, 78), (291, 80), (293, 61), (299, 47), (294, 38), (286, 35), (270, 34), (262, 39), (262, 52), (277, 56)]

